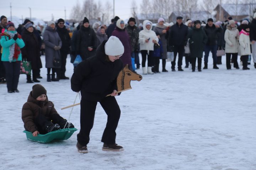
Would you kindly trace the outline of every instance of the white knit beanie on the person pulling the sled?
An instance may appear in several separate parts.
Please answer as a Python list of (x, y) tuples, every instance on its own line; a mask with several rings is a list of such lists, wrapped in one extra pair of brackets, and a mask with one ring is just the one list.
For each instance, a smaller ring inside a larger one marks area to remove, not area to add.
[(122, 42), (116, 37), (111, 36), (105, 44), (105, 54), (108, 56), (118, 56), (124, 53)]

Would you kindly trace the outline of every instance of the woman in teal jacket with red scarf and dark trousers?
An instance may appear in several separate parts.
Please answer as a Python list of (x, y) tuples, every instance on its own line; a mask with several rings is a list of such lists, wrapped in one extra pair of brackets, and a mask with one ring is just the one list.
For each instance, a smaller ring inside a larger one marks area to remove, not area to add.
[(0, 35), (2, 46), (1, 61), (6, 71), (6, 82), (8, 93), (19, 92), (18, 79), (20, 77), (21, 48), (25, 46), (21, 35), (15, 31), (14, 23), (8, 22), (6, 30)]

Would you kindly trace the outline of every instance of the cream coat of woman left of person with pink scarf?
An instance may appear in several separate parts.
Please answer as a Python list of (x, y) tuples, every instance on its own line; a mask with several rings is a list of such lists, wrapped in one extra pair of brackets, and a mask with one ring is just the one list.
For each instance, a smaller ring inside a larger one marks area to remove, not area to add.
[(226, 41), (225, 53), (238, 53), (239, 30), (236, 27), (231, 28), (230, 25), (227, 26), (224, 35), (224, 39)]

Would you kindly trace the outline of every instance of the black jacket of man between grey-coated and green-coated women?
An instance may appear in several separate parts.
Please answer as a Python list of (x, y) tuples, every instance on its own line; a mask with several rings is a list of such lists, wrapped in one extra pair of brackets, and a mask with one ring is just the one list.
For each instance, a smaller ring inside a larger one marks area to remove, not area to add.
[(188, 27), (183, 23), (180, 26), (176, 23), (170, 28), (169, 45), (185, 45), (187, 35)]

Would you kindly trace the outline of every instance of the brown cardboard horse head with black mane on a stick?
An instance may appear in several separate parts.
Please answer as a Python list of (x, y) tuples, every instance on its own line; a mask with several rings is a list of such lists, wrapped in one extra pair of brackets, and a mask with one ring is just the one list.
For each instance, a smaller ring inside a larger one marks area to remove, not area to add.
[(132, 89), (130, 86), (130, 81), (131, 80), (137, 80), (140, 81), (142, 80), (142, 76), (132, 72), (128, 68), (128, 64), (119, 72), (118, 77), (117, 77), (117, 91), (125, 91)]

